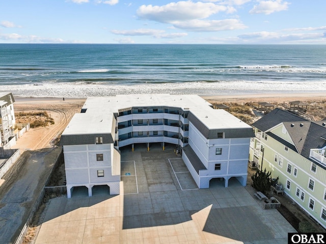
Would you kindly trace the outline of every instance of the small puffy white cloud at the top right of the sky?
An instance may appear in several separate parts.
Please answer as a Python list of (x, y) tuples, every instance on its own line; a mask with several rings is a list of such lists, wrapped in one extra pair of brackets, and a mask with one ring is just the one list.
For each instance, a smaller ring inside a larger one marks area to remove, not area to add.
[(258, 1), (258, 5), (255, 5), (252, 10), (249, 11), (251, 14), (271, 14), (287, 10), (290, 3), (282, 2), (283, 0), (275, 1)]

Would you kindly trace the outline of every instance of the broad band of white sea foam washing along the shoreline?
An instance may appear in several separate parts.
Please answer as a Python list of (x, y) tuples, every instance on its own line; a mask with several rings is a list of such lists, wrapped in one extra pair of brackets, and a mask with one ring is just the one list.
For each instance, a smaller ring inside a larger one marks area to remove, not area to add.
[(313, 93), (325, 92), (326, 82), (188, 82), (167, 84), (139, 84), (130, 86), (102, 84), (44, 83), (41, 86), (7, 85), (2, 91), (21, 97), (89, 97), (113, 96), (116, 94), (198, 94), (235, 95), (258, 93)]

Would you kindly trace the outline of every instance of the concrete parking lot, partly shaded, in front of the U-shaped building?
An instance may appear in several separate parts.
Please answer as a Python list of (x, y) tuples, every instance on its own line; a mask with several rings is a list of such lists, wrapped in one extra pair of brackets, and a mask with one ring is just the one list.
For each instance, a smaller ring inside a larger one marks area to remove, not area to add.
[(294, 228), (262, 209), (250, 186), (218, 179), (198, 189), (174, 148), (137, 145), (121, 153), (121, 194), (52, 199), (36, 243), (287, 243)]

